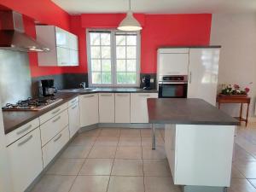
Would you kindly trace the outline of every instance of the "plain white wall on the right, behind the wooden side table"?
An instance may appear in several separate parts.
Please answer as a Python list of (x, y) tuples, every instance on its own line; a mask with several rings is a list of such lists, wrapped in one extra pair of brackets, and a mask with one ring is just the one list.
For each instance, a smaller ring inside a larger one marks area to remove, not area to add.
[[(218, 83), (248, 86), (252, 97), (249, 116), (254, 115), (256, 97), (256, 14), (212, 15), (211, 44), (222, 46)], [(238, 115), (239, 106), (224, 110)], [(251, 118), (254, 119), (254, 118)]]

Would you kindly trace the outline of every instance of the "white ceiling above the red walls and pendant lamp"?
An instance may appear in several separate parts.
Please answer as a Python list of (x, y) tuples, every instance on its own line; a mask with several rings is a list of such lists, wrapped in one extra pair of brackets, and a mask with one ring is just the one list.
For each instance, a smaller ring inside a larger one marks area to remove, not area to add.
[[(123, 13), (129, 0), (52, 0), (69, 14)], [(256, 12), (256, 0), (131, 0), (131, 9), (145, 14)]]

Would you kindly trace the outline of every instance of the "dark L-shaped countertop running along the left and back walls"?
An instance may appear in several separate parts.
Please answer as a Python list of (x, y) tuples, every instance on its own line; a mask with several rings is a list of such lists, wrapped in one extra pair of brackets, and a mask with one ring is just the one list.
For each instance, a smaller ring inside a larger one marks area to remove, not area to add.
[(108, 92), (108, 93), (157, 93), (157, 90), (143, 90), (138, 88), (96, 88), (95, 90), (82, 90), (76, 89), (74, 90), (61, 90), (57, 94), (55, 94), (56, 98), (63, 99), (61, 102), (55, 103), (55, 105), (50, 106), (49, 108), (45, 108), (40, 111), (3, 111), (3, 124), (4, 124), (4, 132), (8, 134), (11, 131), (19, 128), (21, 125), (25, 125), (26, 123), (32, 121), (32, 119), (36, 119), (44, 113), (49, 112), (50, 110), (61, 106), (61, 104), (72, 100), (74, 97), (84, 94), (91, 93), (100, 93), (100, 92)]

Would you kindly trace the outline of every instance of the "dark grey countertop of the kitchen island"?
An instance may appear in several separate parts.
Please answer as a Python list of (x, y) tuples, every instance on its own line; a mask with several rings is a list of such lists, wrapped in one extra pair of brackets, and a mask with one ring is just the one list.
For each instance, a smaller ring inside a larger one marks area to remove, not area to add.
[(240, 122), (201, 99), (148, 99), (153, 124), (240, 125)]

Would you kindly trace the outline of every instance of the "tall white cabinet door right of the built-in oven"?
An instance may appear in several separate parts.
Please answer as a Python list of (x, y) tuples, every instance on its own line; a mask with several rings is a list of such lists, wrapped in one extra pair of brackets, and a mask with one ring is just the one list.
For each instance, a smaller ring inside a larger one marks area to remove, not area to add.
[(215, 106), (219, 49), (189, 50), (188, 98), (201, 98)]

